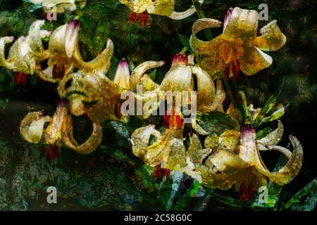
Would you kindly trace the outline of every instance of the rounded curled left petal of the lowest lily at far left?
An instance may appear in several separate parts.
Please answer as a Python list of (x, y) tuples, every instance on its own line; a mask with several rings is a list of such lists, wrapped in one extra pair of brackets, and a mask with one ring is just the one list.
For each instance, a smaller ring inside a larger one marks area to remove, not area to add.
[(44, 125), (50, 121), (51, 117), (43, 117), (42, 113), (27, 113), (20, 124), (20, 134), (25, 141), (39, 143), (44, 132)]

